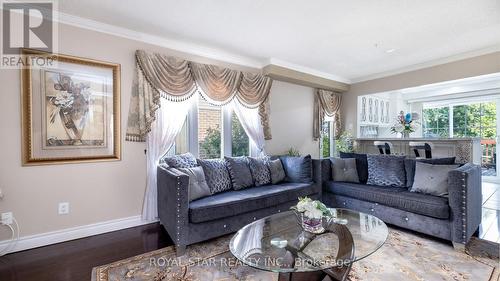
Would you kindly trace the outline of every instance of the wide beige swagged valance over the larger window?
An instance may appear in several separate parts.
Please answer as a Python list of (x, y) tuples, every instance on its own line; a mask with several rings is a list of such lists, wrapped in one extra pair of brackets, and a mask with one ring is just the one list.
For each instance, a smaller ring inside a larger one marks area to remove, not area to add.
[(126, 140), (143, 142), (151, 130), (160, 98), (180, 102), (199, 92), (208, 102), (224, 105), (235, 97), (248, 108), (259, 108), (265, 139), (269, 128), (272, 79), (215, 65), (137, 50), (136, 77), (128, 115)]

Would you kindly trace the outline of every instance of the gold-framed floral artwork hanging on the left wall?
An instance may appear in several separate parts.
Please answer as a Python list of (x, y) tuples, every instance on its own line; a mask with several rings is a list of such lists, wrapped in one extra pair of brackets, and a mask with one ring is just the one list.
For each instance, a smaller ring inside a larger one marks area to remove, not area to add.
[(121, 157), (120, 65), (23, 49), (24, 166), (114, 161)]

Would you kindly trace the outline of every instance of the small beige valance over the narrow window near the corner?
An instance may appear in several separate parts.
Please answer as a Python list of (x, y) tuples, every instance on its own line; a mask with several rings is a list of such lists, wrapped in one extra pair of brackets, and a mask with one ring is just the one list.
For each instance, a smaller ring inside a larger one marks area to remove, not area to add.
[(325, 116), (333, 117), (335, 136), (342, 130), (341, 121), (342, 95), (340, 93), (317, 89), (314, 94), (313, 138), (318, 140), (321, 135), (321, 124)]

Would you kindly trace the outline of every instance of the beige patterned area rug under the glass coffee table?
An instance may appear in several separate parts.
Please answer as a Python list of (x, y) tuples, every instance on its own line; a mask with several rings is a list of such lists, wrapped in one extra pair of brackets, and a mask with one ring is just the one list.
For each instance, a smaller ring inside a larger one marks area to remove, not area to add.
[[(173, 247), (95, 267), (92, 281), (277, 280), (276, 273), (243, 265), (228, 250), (231, 236), (188, 247), (177, 258)], [(390, 229), (384, 246), (354, 263), (349, 280), (499, 281), (498, 244), (472, 239), (466, 253), (442, 240)]]

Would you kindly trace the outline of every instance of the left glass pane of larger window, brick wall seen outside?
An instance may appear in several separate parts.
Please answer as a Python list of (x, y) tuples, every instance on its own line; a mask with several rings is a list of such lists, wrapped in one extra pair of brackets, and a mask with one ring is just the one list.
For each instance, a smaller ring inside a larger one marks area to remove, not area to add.
[(200, 98), (198, 103), (199, 158), (220, 158), (222, 150), (222, 107)]

